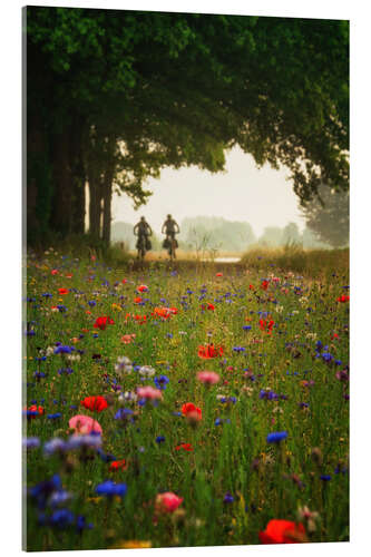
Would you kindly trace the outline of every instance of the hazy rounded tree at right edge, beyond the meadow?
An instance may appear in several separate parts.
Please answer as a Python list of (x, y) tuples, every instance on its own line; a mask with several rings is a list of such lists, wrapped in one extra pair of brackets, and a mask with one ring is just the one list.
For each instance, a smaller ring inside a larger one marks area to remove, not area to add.
[(306, 226), (315, 236), (333, 247), (349, 244), (349, 192), (320, 188), (320, 198), (302, 207)]

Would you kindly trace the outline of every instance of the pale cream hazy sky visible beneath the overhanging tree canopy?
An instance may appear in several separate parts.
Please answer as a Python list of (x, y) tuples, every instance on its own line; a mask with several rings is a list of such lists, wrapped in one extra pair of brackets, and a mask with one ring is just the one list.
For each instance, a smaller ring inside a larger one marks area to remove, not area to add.
[(285, 170), (269, 165), (257, 169), (251, 155), (234, 148), (226, 155), (226, 172), (211, 174), (196, 167), (166, 168), (159, 179), (149, 179), (154, 192), (147, 205), (134, 211), (126, 195), (114, 196), (113, 219), (135, 224), (144, 215), (155, 233), (168, 213), (180, 224), (186, 216), (223, 216), (248, 222), (256, 235), (265, 226), (285, 226), (294, 222), (302, 229), (297, 197), (286, 180)]

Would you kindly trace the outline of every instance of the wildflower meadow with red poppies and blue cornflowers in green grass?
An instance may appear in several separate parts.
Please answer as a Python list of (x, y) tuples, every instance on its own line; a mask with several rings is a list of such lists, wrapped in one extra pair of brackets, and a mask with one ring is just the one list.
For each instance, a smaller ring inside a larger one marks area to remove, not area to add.
[(349, 539), (348, 252), (300, 257), (29, 255), (28, 550)]

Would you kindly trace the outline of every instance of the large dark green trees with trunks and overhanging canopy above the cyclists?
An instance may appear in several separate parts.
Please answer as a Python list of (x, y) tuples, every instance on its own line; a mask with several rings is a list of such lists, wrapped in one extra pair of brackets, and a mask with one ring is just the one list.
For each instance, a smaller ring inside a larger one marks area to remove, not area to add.
[[(302, 202), (349, 186), (349, 22), (27, 7), (29, 243), (109, 243), (164, 167), (224, 169), (238, 145)], [(246, 232), (246, 231), (245, 231)], [(246, 232), (247, 233), (247, 232)]]

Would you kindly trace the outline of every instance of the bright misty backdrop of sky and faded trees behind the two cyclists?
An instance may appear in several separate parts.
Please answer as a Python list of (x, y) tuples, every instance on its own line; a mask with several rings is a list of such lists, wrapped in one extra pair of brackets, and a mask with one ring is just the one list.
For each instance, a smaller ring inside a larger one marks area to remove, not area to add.
[[(166, 168), (160, 178), (149, 178), (153, 192), (146, 205), (135, 209), (126, 194), (113, 197), (111, 242), (124, 242), (134, 250), (133, 226), (145, 216), (153, 228), (153, 248), (160, 250), (162, 225), (172, 214), (180, 227), (179, 247), (201, 247), (225, 252), (244, 252), (260, 245), (277, 247), (287, 244), (304, 248), (330, 248), (349, 243), (349, 195), (326, 195), (325, 207), (318, 201), (307, 204), (306, 213), (287, 183), (285, 168), (269, 165), (257, 168), (253, 157), (238, 147), (226, 154), (226, 170), (213, 175), (197, 167), (178, 170)], [(329, 212), (329, 202), (332, 207)], [(343, 218), (339, 217), (344, 207)], [(313, 221), (313, 212), (320, 213)], [(322, 219), (319, 216), (322, 215)], [(331, 213), (333, 218), (331, 218)], [(322, 222), (318, 222), (322, 221)], [(324, 223), (331, 228), (325, 234)]]

